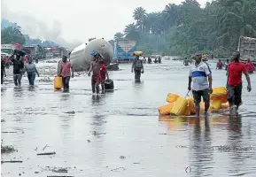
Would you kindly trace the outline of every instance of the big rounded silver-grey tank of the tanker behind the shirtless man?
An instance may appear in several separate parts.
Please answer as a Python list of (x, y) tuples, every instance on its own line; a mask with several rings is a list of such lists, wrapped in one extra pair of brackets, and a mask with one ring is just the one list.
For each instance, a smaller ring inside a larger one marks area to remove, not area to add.
[(88, 44), (82, 43), (71, 51), (70, 62), (75, 72), (89, 70), (90, 62), (93, 60), (93, 56), (90, 55), (92, 50), (98, 51), (103, 56), (105, 65), (111, 63), (113, 58), (112, 45), (104, 39), (95, 39)]

